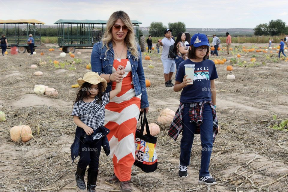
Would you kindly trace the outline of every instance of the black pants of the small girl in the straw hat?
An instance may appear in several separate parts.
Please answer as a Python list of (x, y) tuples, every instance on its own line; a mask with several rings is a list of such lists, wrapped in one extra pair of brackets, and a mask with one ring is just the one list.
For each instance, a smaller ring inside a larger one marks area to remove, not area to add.
[(89, 169), (98, 170), (101, 145), (102, 138), (94, 140), (93, 143), (83, 143), (82, 137), (80, 138), (80, 159), (78, 166), (81, 169), (85, 169), (89, 165)]

